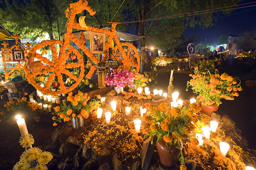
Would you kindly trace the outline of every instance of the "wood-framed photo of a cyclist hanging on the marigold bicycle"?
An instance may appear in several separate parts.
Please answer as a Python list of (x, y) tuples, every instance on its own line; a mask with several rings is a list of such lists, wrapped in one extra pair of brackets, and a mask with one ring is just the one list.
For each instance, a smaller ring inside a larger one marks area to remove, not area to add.
[(94, 54), (105, 52), (105, 33), (90, 31), (90, 50)]

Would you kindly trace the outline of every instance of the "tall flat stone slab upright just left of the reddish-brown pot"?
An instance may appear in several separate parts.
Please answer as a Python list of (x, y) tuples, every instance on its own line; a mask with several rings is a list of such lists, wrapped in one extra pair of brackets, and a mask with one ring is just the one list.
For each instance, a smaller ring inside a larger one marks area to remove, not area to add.
[(145, 140), (142, 147), (142, 154), (141, 154), (141, 168), (143, 170), (146, 170), (149, 168), (152, 154), (155, 150), (155, 144), (156, 144), (156, 137), (153, 139), (153, 145), (151, 145), (150, 140)]

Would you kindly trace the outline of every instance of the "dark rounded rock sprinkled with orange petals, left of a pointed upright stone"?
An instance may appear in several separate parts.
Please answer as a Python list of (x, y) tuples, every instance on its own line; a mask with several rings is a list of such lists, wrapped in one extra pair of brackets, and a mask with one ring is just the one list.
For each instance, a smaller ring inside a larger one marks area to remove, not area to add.
[(107, 162), (111, 159), (111, 153), (103, 143), (97, 144), (97, 146), (92, 148), (93, 156), (96, 157), (99, 165), (102, 165), (104, 162)]

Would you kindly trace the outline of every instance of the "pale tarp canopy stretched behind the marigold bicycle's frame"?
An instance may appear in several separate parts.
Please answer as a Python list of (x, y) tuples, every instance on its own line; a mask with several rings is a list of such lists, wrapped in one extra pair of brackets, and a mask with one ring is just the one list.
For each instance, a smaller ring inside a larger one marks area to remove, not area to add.
[[(105, 29), (105, 30), (111, 30), (110, 27), (103, 27), (101, 29)], [(124, 32), (118, 29), (115, 29), (115, 33), (117, 35), (117, 37), (119, 38), (119, 40), (121, 41), (136, 41), (136, 40), (140, 40), (141, 38), (143, 38), (144, 36), (142, 35), (136, 35), (136, 34), (131, 34), (128, 32)], [(76, 38), (80, 39), (80, 31), (76, 31), (76, 32), (72, 32), (72, 34), (74, 34), (76, 36)], [(85, 39), (88, 41), (90, 40), (90, 31), (83, 31), (84, 37)], [(60, 34), (61, 36), (64, 36), (64, 33)], [(108, 40), (109, 35), (105, 35), (105, 40)]]

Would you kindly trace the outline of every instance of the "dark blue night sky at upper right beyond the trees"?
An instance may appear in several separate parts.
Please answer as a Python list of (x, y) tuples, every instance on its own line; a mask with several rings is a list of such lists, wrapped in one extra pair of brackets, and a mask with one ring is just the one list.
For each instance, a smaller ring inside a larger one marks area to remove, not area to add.
[[(255, 2), (255, 3), (251, 3)], [(256, 0), (244, 0), (241, 1), (239, 4), (245, 4), (245, 3), (251, 3), (243, 6), (252, 6), (256, 5)], [(237, 6), (236, 6), (237, 7)], [(241, 6), (238, 6), (241, 7)], [(250, 10), (250, 11), (247, 11)], [(246, 12), (243, 12), (246, 11)], [(241, 13), (239, 13), (241, 12)], [(238, 13), (238, 14), (237, 14)], [(213, 21), (215, 24), (212, 27), (208, 27), (205, 29), (200, 29), (198, 25), (195, 26), (195, 28), (190, 28), (187, 27), (185, 30), (184, 34), (186, 38), (196, 35), (196, 43), (195, 45), (198, 44), (198, 42), (202, 42), (202, 44), (205, 44), (205, 39), (206, 39), (206, 44), (209, 45), (216, 45), (216, 42), (218, 41), (218, 38), (226, 34), (229, 36), (230, 34), (232, 35), (239, 35), (242, 32), (245, 31), (250, 31), (252, 28), (256, 28), (256, 6), (253, 7), (247, 7), (247, 8), (241, 8), (241, 9), (236, 9), (234, 10), (231, 14), (228, 14), (230, 16), (225, 15), (220, 15), (219, 18), (216, 21)]]

